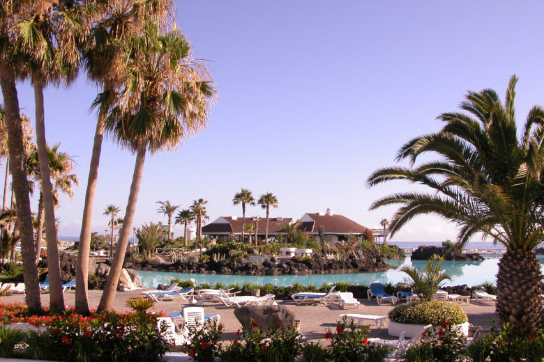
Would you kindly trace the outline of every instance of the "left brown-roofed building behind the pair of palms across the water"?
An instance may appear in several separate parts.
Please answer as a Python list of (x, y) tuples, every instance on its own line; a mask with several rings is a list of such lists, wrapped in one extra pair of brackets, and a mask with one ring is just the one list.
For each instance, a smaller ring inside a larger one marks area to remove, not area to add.
[[(292, 217), (271, 217), (269, 219), (269, 238), (278, 236), (282, 232), (282, 223), (292, 223)], [(213, 222), (202, 226), (202, 235), (213, 239), (239, 239), (242, 235), (243, 224), (255, 224), (255, 219), (252, 217), (218, 217)], [(257, 221), (257, 237), (264, 239), (266, 233), (266, 218), (259, 217)], [(249, 232), (244, 232), (245, 237), (248, 237)], [(251, 232), (255, 235), (255, 230)]]

